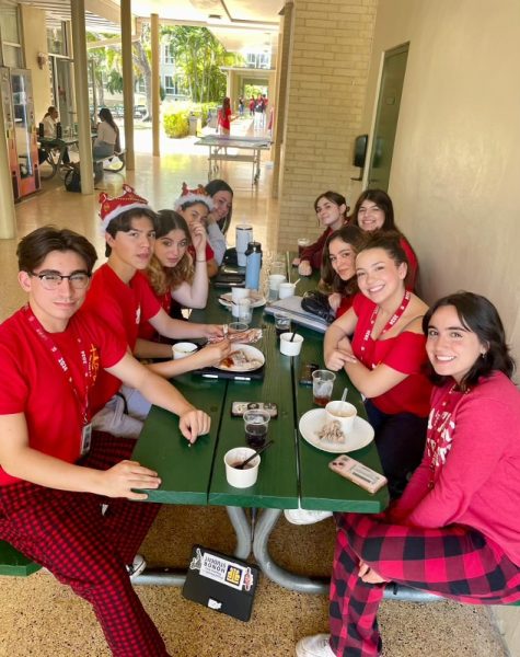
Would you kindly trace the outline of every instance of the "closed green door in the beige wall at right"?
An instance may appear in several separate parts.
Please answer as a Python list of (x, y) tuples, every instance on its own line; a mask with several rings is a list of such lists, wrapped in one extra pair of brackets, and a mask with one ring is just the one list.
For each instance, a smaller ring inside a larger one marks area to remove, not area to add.
[(386, 192), (389, 188), (408, 46), (409, 44), (404, 44), (384, 54), (368, 170), (367, 186), (372, 189)]

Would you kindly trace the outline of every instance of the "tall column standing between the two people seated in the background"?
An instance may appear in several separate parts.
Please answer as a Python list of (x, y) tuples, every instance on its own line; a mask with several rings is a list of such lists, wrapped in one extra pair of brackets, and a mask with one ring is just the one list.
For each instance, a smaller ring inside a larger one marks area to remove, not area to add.
[(92, 140), (90, 136), (84, 0), (71, 1), (70, 9), (72, 19), (72, 44), (74, 49), (74, 90), (78, 108), (78, 142), (81, 155), (81, 193), (93, 194), (94, 171), (92, 168)]

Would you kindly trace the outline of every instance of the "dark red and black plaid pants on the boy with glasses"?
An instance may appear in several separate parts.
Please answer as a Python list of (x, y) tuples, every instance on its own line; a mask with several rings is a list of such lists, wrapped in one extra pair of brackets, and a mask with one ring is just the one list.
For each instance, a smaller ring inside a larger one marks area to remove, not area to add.
[[(107, 470), (129, 459), (134, 445), (127, 438), (94, 433), (82, 464)], [(109, 505), (104, 516), (102, 504)], [(92, 604), (113, 655), (163, 657), (164, 642), (125, 567), (159, 508), (20, 482), (0, 488), (0, 538)]]

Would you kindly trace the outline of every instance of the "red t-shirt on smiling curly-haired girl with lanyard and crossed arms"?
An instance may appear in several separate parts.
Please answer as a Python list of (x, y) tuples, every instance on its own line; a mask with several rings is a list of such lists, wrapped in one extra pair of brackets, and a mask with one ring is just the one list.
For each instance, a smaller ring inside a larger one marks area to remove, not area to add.
[[(427, 417), (431, 383), (421, 373), (428, 360), (426, 336), (403, 331), (395, 337), (375, 341), (369, 337), (363, 342), (367, 332), (370, 334), (371, 331), (370, 319), (374, 308), (375, 303), (363, 295), (356, 295), (354, 298), (353, 309), (358, 316), (351, 343), (354, 355), (369, 369), (384, 364), (408, 376), (394, 388), (370, 401), (390, 415), (413, 413), (419, 417)], [(361, 351), (361, 346), (365, 346), (365, 351)]]

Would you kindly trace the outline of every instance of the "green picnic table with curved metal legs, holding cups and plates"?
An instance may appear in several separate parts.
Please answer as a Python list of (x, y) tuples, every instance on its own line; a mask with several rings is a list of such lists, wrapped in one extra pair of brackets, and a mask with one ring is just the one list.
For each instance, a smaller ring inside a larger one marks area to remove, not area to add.
[[(292, 276), (294, 278), (294, 276)], [(304, 279), (302, 288), (315, 287), (316, 280)], [(300, 293), (300, 289), (298, 290)], [(222, 290), (210, 287), (205, 310), (193, 311), (190, 320), (207, 323), (232, 321), (228, 308), (219, 303)], [(236, 533), (235, 556), (246, 558), (251, 551), (263, 573), (287, 588), (304, 592), (323, 592), (325, 585), (315, 579), (289, 573), (279, 567), (268, 552), (268, 540), (282, 509), (302, 508), (332, 511), (378, 512), (388, 504), (386, 488), (371, 495), (328, 469), (334, 454), (323, 452), (302, 439), (299, 418), (315, 407), (312, 388), (298, 381), (300, 365), (312, 361), (323, 366), (323, 335), (298, 327), (303, 335), (300, 356), (280, 354), (273, 318), (262, 308), (253, 311), (253, 326), (263, 328), (263, 338), (255, 346), (266, 358), (262, 381), (204, 379), (188, 373), (175, 379), (175, 385), (196, 406), (211, 415), (211, 431), (188, 446), (178, 430), (178, 418), (153, 407), (136, 446), (134, 458), (159, 472), (162, 480), (158, 491), (148, 491), (149, 502), (226, 506)], [(365, 410), (359, 393), (345, 372), (338, 372), (335, 395), (349, 388), (348, 400), (356, 404), (359, 415)], [(278, 417), (269, 423), (269, 439), (275, 443), (262, 454), (258, 480), (250, 488), (234, 488), (227, 483), (224, 453), (243, 446), (242, 418), (231, 416), (231, 404), (240, 402), (275, 402)], [(373, 442), (351, 456), (381, 472)], [(262, 509), (252, 531), (252, 520), (244, 509)], [(254, 533), (254, 537), (252, 535)], [(146, 584), (178, 584), (171, 574), (145, 573), (139, 581)]]

